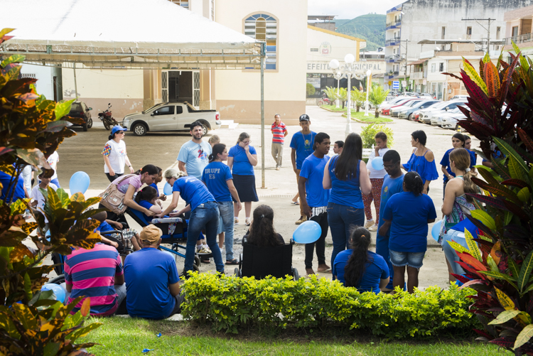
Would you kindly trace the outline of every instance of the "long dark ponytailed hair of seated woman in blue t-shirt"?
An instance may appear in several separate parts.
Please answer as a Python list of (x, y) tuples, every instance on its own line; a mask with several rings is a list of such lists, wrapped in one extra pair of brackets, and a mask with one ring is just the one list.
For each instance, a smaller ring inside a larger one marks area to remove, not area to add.
[(345, 286), (357, 287), (365, 274), (366, 264), (372, 262), (368, 256), (370, 232), (365, 227), (357, 226), (350, 236), (350, 248), (353, 249), (348, 263), (344, 267)]

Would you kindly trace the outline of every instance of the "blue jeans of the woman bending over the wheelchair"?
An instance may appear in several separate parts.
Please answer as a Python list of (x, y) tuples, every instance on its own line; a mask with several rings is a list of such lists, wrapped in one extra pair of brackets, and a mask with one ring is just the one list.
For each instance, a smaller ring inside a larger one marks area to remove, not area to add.
[(185, 249), (185, 272), (193, 271), (196, 241), (198, 236), (200, 236), (200, 231), (205, 228), (205, 239), (215, 260), (217, 272), (224, 273), (222, 254), (220, 254), (217, 244), (218, 205), (216, 202), (207, 202), (202, 205), (190, 212), (189, 226), (187, 228), (187, 247)]

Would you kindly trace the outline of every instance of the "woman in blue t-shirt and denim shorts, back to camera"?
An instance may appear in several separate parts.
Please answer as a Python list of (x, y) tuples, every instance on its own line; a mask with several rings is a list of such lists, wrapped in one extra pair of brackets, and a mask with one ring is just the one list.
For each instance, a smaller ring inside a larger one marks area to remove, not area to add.
[(404, 176), (404, 191), (389, 198), (383, 212), (383, 225), (378, 233), (386, 236), (390, 228), (389, 253), (394, 277), (392, 286), (403, 288), (407, 266), (407, 290), (419, 286), (419, 269), (427, 249), (428, 224), (437, 213), (433, 200), (423, 194), (424, 183), (419, 173)]

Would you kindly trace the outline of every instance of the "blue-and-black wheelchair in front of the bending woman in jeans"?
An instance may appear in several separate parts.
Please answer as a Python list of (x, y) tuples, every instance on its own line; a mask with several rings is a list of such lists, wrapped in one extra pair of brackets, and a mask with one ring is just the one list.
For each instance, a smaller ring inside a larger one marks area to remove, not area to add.
[[(181, 217), (169, 217), (161, 219), (162, 222), (153, 223), (146, 221), (144, 215), (139, 210), (128, 208), (126, 210), (126, 214), (128, 214), (133, 220), (135, 220), (137, 224), (141, 225), (141, 227), (154, 224), (156, 225), (156, 227), (160, 228), (163, 232), (163, 236), (161, 236), (161, 243), (171, 244), (172, 247), (169, 249), (168, 247), (164, 247), (161, 244), (159, 248), (167, 252), (171, 252), (171, 254), (174, 254), (176, 258), (179, 256), (185, 259), (185, 251), (187, 248), (179, 244), (179, 242), (187, 242), (187, 222), (185, 222), (184, 219), (181, 219)], [(183, 253), (181, 253), (180, 250), (184, 250)], [(210, 255), (203, 256), (210, 257)], [(200, 264), (200, 257), (198, 257), (198, 254), (195, 251), (193, 264), (194, 271), (200, 271)]]

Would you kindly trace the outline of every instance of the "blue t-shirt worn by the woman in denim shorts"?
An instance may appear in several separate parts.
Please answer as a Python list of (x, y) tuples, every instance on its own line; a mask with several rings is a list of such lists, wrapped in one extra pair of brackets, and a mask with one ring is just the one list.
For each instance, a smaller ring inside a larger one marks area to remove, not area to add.
[(436, 219), (433, 200), (426, 194), (411, 192), (394, 194), (383, 212), (384, 220), (392, 220), (389, 249), (396, 252), (425, 252), (428, 244), (428, 220)]

